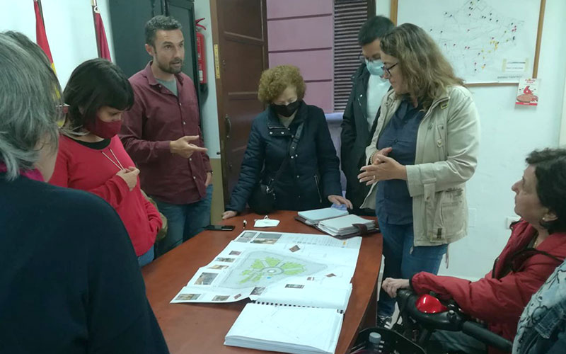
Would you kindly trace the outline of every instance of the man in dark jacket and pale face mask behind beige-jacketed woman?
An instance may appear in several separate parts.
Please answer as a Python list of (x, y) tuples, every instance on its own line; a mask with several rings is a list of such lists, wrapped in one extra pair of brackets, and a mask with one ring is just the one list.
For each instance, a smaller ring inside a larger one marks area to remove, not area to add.
[(373, 210), (359, 208), (369, 186), (359, 183), (357, 175), (365, 165), (365, 149), (376, 129), (381, 100), (390, 87), (389, 81), (382, 77), (380, 40), (393, 27), (388, 18), (375, 16), (360, 28), (358, 43), (362, 47), (362, 64), (352, 75), (352, 92), (342, 120), (340, 160), (347, 181), (346, 198), (354, 205), (352, 212), (359, 215), (375, 215)]

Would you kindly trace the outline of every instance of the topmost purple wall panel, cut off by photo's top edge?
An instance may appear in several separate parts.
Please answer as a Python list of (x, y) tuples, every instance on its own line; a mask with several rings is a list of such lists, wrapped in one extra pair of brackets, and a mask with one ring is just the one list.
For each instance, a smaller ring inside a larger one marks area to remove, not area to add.
[(267, 19), (333, 13), (331, 0), (267, 0)]

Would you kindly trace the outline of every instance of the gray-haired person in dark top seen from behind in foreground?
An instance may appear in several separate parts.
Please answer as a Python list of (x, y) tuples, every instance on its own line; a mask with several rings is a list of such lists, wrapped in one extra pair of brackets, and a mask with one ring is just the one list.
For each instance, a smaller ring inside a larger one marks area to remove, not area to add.
[(44, 183), (62, 113), (40, 47), (0, 33), (0, 351), (168, 353), (120, 217)]

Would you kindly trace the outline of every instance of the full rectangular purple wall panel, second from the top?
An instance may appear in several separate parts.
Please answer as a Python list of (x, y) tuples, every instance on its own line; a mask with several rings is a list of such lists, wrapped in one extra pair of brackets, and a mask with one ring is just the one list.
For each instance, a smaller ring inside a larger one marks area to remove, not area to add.
[(333, 47), (333, 17), (295, 18), (267, 22), (269, 51)]

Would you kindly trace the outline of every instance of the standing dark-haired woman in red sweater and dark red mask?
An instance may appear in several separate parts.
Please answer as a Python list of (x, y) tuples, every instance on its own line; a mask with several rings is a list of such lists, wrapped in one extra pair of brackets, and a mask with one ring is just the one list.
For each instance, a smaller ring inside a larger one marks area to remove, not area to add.
[(116, 65), (92, 59), (71, 74), (64, 101), (68, 113), (50, 183), (86, 190), (110, 203), (126, 227), (139, 265), (150, 263), (161, 217), (141, 194), (139, 170), (117, 137), (122, 112), (134, 104), (132, 86)]

